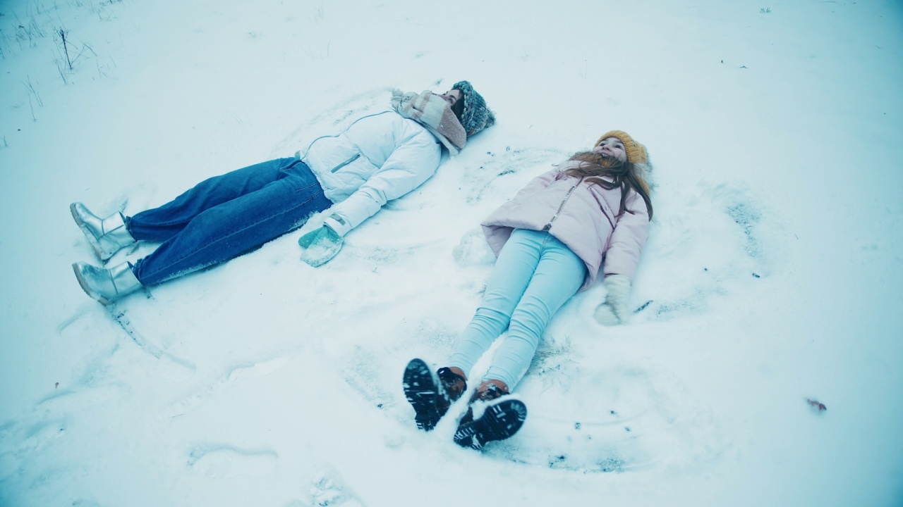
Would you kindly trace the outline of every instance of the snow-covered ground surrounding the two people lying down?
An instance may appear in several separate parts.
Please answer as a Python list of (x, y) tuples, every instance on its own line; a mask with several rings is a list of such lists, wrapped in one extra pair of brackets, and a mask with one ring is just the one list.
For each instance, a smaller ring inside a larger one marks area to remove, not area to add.
[[(903, 504), (901, 61), (896, 0), (0, 1), (0, 504)], [(293, 233), (79, 289), (70, 202), (134, 214), (459, 79), (498, 124), (331, 263)], [(633, 321), (568, 303), (515, 438), (419, 433), (401, 374), (479, 302), (474, 227), (615, 128), (658, 184)]]

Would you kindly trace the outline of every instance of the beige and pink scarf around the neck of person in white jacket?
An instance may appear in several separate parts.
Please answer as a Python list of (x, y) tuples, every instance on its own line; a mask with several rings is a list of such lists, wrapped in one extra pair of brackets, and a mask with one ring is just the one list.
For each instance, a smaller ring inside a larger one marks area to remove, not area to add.
[(464, 127), (452, 113), (452, 106), (442, 97), (433, 95), (428, 90), (416, 94), (396, 88), (392, 90), (391, 104), (399, 115), (424, 125), (442, 141), (450, 154), (457, 155), (464, 148), (464, 143), (467, 143)]

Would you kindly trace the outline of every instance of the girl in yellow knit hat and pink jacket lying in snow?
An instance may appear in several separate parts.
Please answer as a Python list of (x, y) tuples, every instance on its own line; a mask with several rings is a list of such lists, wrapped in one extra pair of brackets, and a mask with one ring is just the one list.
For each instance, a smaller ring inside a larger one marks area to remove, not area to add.
[(405, 369), (405, 396), (418, 428), (433, 429), (461, 398), (470, 369), (507, 328), (454, 440), (479, 449), (514, 435), (526, 406), (499, 398), (526, 373), (555, 312), (596, 280), (603, 259), (608, 292), (595, 318), (605, 325), (626, 321), (630, 283), (652, 218), (650, 175), (646, 147), (611, 131), (591, 152), (532, 180), (483, 222), (498, 261), (482, 303), (445, 367), (433, 373), (414, 359)]

